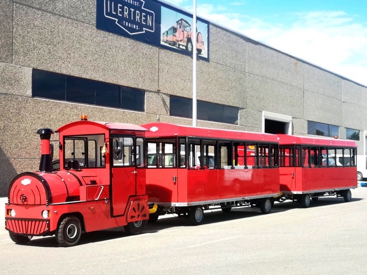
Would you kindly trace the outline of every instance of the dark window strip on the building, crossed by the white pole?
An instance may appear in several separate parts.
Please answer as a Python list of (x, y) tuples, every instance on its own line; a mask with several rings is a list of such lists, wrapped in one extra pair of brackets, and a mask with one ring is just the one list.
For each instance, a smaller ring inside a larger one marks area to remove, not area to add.
[[(192, 99), (171, 95), (169, 97), (169, 115), (192, 118)], [(238, 107), (226, 106), (206, 101), (197, 101), (197, 118), (228, 124), (238, 124)]]

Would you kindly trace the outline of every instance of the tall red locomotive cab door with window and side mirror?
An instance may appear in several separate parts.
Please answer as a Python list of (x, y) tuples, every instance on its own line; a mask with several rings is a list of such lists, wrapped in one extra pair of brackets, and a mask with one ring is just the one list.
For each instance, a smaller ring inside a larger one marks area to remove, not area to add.
[(116, 136), (112, 147), (112, 216), (125, 214), (130, 196), (136, 194), (134, 136)]

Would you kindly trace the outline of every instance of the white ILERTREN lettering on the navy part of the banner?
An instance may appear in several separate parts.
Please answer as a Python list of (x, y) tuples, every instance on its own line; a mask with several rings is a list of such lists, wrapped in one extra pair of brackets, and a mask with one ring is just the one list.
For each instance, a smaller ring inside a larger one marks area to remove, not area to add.
[(115, 15), (126, 20), (131, 20), (136, 23), (139, 22), (150, 27), (152, 26), (152, 14), (147, 14), (133, 8), (128, 8), (121, 4), (115, 4), (113, 1), (107, 1), (105, 4), (107, 4), (107, 7), (105, 6), (105, 11), (108, 14)]

